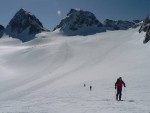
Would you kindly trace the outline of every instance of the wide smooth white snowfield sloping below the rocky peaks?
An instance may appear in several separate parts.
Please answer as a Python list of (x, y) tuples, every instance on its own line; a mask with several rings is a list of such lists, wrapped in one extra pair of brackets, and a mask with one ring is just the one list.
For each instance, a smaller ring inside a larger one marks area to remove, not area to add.
[[(0, 113), (150, 113), (150, 44), (138, 29), (43, 32), (26, 43), (3, 37)], [(118, 102), (120, 76), (127, 87)]]

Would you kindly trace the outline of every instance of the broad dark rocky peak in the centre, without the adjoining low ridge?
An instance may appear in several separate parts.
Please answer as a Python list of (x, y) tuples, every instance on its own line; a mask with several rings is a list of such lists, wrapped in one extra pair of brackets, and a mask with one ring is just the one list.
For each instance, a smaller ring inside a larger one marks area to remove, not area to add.
[(55, 30), (65, 35), (89, 35), (105, 31), (103, 24), (93, 13), (80, 9), (71, 9)]

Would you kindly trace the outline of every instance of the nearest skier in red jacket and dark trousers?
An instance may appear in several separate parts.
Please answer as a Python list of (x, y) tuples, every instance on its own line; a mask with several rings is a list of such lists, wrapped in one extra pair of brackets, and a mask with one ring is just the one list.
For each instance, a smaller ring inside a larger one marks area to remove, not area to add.
[(115, 89), (117, 89), (117, 94), (116, 94), (116, 100), (118, 100), (119, 96), (119, 101), (121, 101), (121, 96), (122, 96), (122, 86), (126, 87), (124, 81), (122, 80), (121, 77), (119, 77), (115, 83)]

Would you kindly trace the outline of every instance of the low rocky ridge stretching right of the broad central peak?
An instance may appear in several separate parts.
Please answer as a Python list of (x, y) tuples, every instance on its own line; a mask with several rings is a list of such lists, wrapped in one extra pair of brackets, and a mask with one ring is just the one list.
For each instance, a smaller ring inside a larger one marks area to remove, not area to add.
[(110, 20), (104, 21), (104, 26), (107, 30), (127, 30), (129, 28), (136, 28), (139, 26), (139, 20), (135, 21), (123, 21), (123, 20)]

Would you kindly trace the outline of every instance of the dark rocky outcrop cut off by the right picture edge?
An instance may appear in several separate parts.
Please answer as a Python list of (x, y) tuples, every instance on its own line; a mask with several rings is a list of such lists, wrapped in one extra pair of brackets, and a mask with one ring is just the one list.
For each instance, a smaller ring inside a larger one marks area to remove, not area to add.
[(139, 33), (142, 31), (146, 32), (145, 39), (143, 43), (147, 43), (150, 40), (150, 15), (146, 17), (146, 19), (143, 21)]

